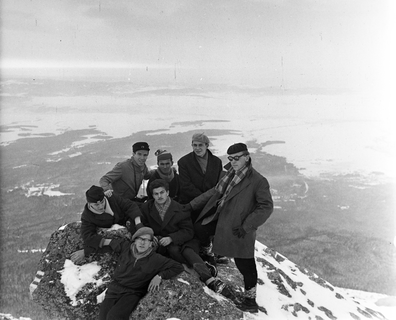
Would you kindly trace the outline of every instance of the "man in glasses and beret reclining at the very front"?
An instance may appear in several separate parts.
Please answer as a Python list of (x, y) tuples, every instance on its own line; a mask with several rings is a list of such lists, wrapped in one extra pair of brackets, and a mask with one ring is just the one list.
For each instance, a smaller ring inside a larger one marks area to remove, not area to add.
[(112, 282), (99, 308), (99, 320), (128, 320), (139, 300), (148, 292), (160, 291), (161, 279), (184, 271), (183, 266), (155, 252), (154, 232), (143, 227), (128, 240), (105, 239), (98, 253), (120, 253)]

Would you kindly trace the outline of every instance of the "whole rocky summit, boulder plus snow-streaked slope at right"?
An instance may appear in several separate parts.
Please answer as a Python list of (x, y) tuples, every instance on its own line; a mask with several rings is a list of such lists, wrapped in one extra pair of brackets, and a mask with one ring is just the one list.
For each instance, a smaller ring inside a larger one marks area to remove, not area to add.
[[(130, 238), (125, 228), (98, 229), (112, 238)], [(30, 285), (31, 296), (48, 312), (52, 320), (96, 319), (104, 291), (116, 263), (114, 253), (94, 254), (75, 265), (72, 252), (82, 249), (80, 223), (70, 223), (55, 231), (42, 255), (36, 278)], [(256, 242), (258, 271), (258, 314), (243, 315), (234, 303), (243, 295), (243, 279), (233, 261), (219, 266), (226, 284), (222, 295), (209, 290), (194, 276), (182, 272), (161, 282), (159, 293), (147, 294), (131, 318), (136, 319), (385, 319), (364, 307), (313, 272), (298, 267), (286, 257)]]

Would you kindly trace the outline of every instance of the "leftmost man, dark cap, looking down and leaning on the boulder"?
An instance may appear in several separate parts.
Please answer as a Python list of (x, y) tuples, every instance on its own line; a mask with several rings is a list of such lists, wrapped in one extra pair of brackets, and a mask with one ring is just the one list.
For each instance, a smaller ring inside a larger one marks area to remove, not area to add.
[(136, 202), (116, 194), (107, 197), (101, 187), (92, 186), (85, 195), (87, 204), (81, 214), (81, 236), (85, 246), (83, 250), (72, 253), (73, 262), (78, 262), (84, 256), (102, 248), (105, 239), (96, 233), (96, 227), (111, 228), (114, 224), (125, 226), (128, 219), (133, 220), (141, 215)]

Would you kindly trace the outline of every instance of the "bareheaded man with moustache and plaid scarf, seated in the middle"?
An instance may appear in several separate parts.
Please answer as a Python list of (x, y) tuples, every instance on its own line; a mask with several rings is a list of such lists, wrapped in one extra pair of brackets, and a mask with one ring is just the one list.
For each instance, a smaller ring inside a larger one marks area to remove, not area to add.
[[(182, 211), (183, 206), (169, 197), (169, 185), (163, 179), (150, 183), (150, 192), (154, 199), (141, 206), (143, 216), (139, 218), (136, 229), (149, 226), (154, 230), (158, 241), (158, 251), (168, 254), (177, 262), (192, 267), (202, 278), (209, 289), (220, 293), (225, 284), (215, 279), (217, 270), (213, 265), (204, 263), (199, 252), (199, 241), (193, 238), (194, 231), (188, 212)], [(140, 222), (140, 223), (139, 223)]]

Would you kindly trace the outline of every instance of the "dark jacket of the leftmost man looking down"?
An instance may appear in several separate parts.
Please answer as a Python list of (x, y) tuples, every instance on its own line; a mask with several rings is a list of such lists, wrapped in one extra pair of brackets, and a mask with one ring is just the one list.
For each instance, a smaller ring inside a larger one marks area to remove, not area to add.
[(84, 207), (81, 215), (81, 236), (84, 240), (84, 253), (89, 255), (99, 248), (103, 236), (96, 233), (96, 227), (110, 228), (114, 224), (125, 225), (128, 219), (134, 222), (135, 217), (141, 215), (141, 211), (136, 202), (121, 198), (113, 194), (107, 198), (114, 216), (103, 212), (101, 214), (93, 213), (88, 209), (88, 203)]

